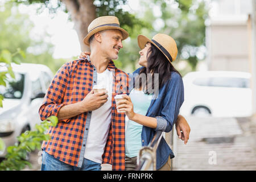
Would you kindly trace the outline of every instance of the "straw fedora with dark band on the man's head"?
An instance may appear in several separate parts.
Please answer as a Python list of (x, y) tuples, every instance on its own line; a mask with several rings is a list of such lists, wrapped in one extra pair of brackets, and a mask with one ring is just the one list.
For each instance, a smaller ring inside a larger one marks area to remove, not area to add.
[(117, 29), (122, 32), (123, 40), (129, 37), (127, 31), (120, 27), (116, 16), (100, 16), (94, 19), (88, 26), (88, 34), (84, 38), (84, 43), (89, 46), (89, 39), (93, 34), (102, 30)]

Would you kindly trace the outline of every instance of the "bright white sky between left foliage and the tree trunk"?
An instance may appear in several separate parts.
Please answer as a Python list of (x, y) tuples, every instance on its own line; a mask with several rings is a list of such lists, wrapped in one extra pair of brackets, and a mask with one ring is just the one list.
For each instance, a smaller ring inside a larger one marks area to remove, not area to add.
[[(79, 39), (73, 29), (73, 22), (68, 20), (68, 14), (60, 10), (55, 15), (49, 15), (47, 9), (38, 14), (36, 13), (37, 7), (38, 5), (19, 5), (19, 12), (30, 15), (30, 20), (35, 24), (31, 31), (31, 38), (37, 39), (38, 36), (43, 35), (43, 32), (47, 32), (51, 40), (44, 41), (51, 42), (55, 46), (53, 52), (55, 59), (80, 55)], [(138, 1), (130, 0), (123, 9), (137, 11)]]

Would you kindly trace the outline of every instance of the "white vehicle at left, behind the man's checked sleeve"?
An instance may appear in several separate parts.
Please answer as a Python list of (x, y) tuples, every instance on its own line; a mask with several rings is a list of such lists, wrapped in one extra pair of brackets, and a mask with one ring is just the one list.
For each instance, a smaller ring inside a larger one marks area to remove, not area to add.
[[(16, 137), (34, 130), (35, 124), (41, 122), (39, 107), (53, 78), (51, 70), (41, 64), (12, 64), (12, 68), (15, 79), (8, 76), (6, 87), (0, 86), (5, 97), (0, 108), (0, 138), (6, 147), (13, 146)], [(5, 155), (6, 148), (0, 151), (0, 157)]]

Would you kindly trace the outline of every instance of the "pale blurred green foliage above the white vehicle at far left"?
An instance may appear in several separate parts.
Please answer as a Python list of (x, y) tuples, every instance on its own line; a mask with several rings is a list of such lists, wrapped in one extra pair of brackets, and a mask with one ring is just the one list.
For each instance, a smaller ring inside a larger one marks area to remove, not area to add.
[[(37, 40), (31, 38), (30, 32), (34, 27), (28, 15), (20, 14), (18, 7), (11, 3), (5, 3), (0, 10), (0, 51), (15, 52), (20, 48), (26, 54), (22, 57), (16, 54), (13, 59), (23, 63), (36, 63), (47, 65), (55, 73), (67, 60), (53, 59), (53, 45), (44, 40), (49, 38), (47, 32)], [(31, 52), (29, 49), (36, 47), (40, 52)]]

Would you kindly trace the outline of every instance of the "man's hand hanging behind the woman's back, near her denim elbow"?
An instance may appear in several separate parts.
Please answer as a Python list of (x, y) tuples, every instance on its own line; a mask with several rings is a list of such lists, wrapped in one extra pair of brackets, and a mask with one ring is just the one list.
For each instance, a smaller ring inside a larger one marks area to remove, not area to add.
[(187, 144), (190, 133), (190, 127), (187, 120), (182, 115), (178, 115), (175, 125), (178, 137), (184, 141), (184, 144)]

